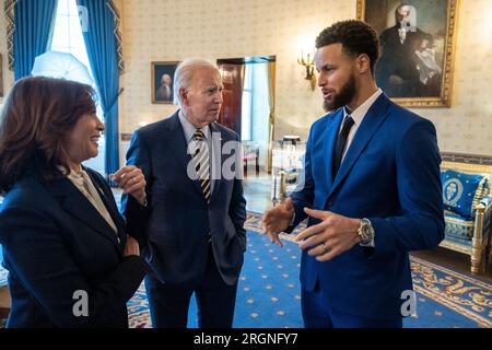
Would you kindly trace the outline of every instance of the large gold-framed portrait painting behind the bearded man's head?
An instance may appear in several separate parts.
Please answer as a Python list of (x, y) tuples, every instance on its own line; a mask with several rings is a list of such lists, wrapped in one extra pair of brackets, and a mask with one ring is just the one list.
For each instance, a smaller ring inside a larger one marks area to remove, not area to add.
[(379, 38), (376, 83), (407, 107), (450, 107), (458, 0), (356, 0)]

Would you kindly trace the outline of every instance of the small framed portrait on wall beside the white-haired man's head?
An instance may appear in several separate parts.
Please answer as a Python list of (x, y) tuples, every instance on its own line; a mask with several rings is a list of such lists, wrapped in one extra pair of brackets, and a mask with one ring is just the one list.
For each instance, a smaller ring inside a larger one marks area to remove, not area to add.
[(151, 97), (153, 104), (172, 104), (174, 73), (179, 61), (151, 62)]

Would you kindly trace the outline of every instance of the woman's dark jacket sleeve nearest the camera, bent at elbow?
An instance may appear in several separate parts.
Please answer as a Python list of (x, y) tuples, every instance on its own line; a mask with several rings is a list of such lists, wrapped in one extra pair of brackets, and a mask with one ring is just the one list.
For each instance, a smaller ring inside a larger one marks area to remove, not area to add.
[[(112, 310), (119, 313), (144, 276), (138, 256), (124, 258), (96, 285), (82, 275), (56, 223), (33, 209), (9, 207), (2, 211), (0, 241), (14, 276), (58, 327), (104, 327)], [(75, 317), (75, 291), (87, 293), (89, 315)], [(108, 312), (109, 311), (109, 312)]]

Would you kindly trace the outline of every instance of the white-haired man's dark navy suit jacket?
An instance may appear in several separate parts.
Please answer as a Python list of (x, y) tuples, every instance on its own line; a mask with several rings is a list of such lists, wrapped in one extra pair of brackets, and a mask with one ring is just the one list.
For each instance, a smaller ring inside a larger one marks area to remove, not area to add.
[[(210, 130), (221, 135), (214, 150), (238, 140), (234, 131), (216, 122), (210, 125)], [(231, 154), (214, 156), (230, 167)], [(227, 284), (233, 284), (246, 249), (242, 179), (215, 179), (208, 205), (198, 182), (187, 176), (190, 161), (178, 112), (134, 132), (127, 163), (143, 171), (149, 206), (143, 208), (131, 197), (122, 197), (128, 232), (145, 246), (152, 273), (163, 283), (199, 281), (207, 267), (211, 236), (219, 271)]]

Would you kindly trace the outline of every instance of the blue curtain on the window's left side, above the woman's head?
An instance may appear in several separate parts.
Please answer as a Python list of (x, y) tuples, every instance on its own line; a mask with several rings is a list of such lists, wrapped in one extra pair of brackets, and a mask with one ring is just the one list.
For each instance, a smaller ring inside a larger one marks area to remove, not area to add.
[(14, 7), (14, 79), (30, 75), (34, 59), (47, 51), (57, 0), (19, 0)]

